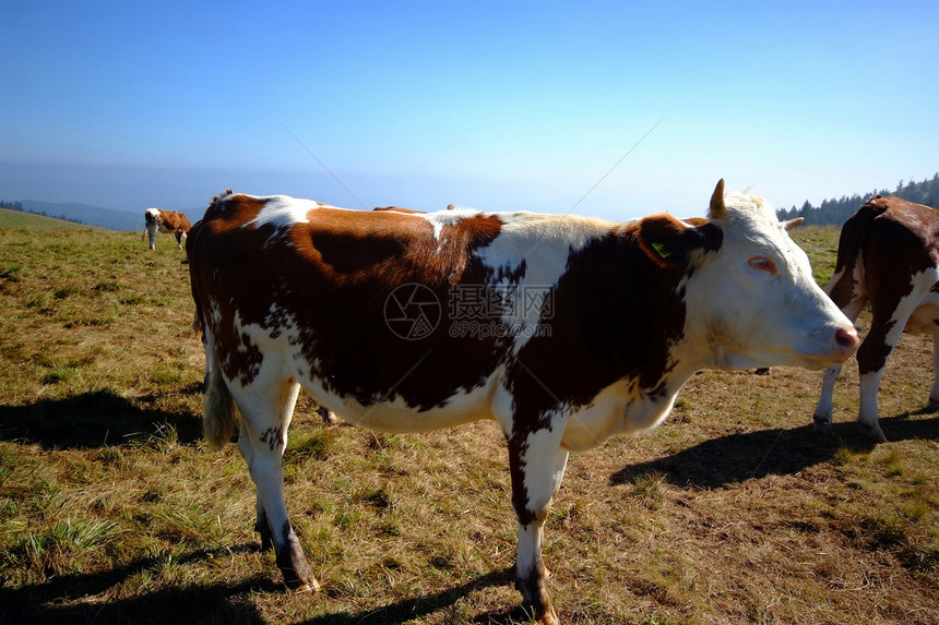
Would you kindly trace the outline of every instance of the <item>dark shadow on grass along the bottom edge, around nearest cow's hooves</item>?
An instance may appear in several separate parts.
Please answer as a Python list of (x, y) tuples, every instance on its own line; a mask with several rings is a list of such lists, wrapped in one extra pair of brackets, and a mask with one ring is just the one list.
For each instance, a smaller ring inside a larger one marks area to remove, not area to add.
[[(242, 545), (237, 550), (254, 549)], [(180, 563), (222, 557), (227, 551), (212, 553), (198, 550)], [(0, 623), (264, 623), (249, 597), (253, 593), (286, 593), (276, 580), (278, 574), (257, 575), (233, 582), (219, 578), (214, 584), (166, 586), (154, 592), (119, 598), (118, 588), (127, 579), (152, 572), (158, 575), (162, 560), (139, 560), (107, 572), (87, 575), (61, 575), (45, 584), (22, 588), (0, 586)], [(304, 621), (307, 625), (380, 625), (404, 623), (435, 612), (447, 612), (471, 593), (490, 586), (506, 586), (514, 580), (514, 567), (476, 577), (465, 584), (415, 599), (399, 601), (377, 610), (350, 613), (342, 610)], [(0, 579), (2, 581), (2, 579)], [(131, 591), (133, 589), (130, 589)], [(329, 603), (329, 589), (311, 594), (311, 602)], [(527, 623), (521, 606), (476, 617), (489, 625)]]

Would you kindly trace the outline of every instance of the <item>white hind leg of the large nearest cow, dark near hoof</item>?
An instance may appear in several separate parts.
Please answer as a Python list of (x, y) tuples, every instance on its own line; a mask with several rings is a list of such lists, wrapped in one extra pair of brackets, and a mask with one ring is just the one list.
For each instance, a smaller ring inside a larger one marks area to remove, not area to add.
[(255, 529), (261, 532), (261, 544), (274, 548), (286, 585), (305, 591), (318, 590), (319, 585), (287, 517), (283, 464), (287, 428), (299, 392), (300, 385), (290, 381), (270, 394), (254, 387), (250, 396), (238, 401), (242, 416), (238, 448), (258, 490)]

